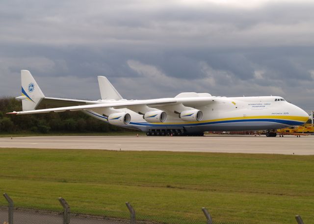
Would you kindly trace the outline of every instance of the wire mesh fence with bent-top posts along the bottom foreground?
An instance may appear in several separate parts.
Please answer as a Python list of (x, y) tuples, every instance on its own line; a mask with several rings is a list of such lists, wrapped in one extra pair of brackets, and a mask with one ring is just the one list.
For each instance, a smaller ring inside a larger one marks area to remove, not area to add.
[[(43, 209), (27, 204), (14, 203), (3, 194), (6, 202), (0, 201), (0, 224), (241, 224), (232, 222), (215, 222), (206, 208), (200, 210), (200, 218), (159, 217), (137, 214), (129, 202), (125, 212), (97, 211), (81, 212), (71, 210), (67, 201), (59, 198), (60, 206)], [(203, 214), (202, 214), (203, 213)], [(304, 224), (300, 216), (295, 217), (298, 224)]]

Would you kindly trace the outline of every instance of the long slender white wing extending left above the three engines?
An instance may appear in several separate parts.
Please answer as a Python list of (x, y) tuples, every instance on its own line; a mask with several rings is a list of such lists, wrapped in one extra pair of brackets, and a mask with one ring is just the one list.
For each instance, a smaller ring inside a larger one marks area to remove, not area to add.
[(40, 109), (40, 110), (28, 110), (28, 111), (14, 111), (7, 114), (38, 114), (38, 113), (48, 113), (51, 111), (54, 112), (63, 112), (66, 110), (77, 111), (77, 110), (91, 110), (94, 108), (105, 108), (105, 107), (117, 107), (117, 108), (127, 108), (128, 106), (135, 105), (165, 105), (176, 103), (177, 100), (173, 98), (164, 98), (164, 99), (154, 99), (154, 100), (125, 100), (125, 101), (114, 101), (114, 102), (106, 102), (106, 103), (96, 103), (89, 105), (79, 105), (79, 106), (66, 106), (66, 107), (56, 107), (49, 109)]

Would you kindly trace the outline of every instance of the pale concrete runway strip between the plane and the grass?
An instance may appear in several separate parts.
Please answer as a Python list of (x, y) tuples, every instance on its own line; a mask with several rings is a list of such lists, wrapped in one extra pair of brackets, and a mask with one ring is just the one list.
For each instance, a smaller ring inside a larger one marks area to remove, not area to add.
[(314, 155), (314, 136), (35, 136), (0, 138), (0, 148), (106, 149)]

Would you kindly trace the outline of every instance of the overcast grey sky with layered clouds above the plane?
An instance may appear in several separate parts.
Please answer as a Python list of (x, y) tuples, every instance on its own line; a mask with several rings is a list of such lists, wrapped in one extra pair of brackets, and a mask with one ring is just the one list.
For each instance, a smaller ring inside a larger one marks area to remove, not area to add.
[(314, 109), (314, 1), (1, 0), (0, 95), (276, 95)]

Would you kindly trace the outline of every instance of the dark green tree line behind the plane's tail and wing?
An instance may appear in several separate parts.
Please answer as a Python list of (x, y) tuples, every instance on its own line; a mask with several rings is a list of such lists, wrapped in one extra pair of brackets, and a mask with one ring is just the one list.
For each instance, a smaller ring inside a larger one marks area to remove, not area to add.
[(48, 133), (48, 132), (112, 132), (130, 131), (92, 118), (79, 111), (9, 115), (12, 111), (22, 111), (21, 101), (11, 97), (0, 98), (1, 133)]

